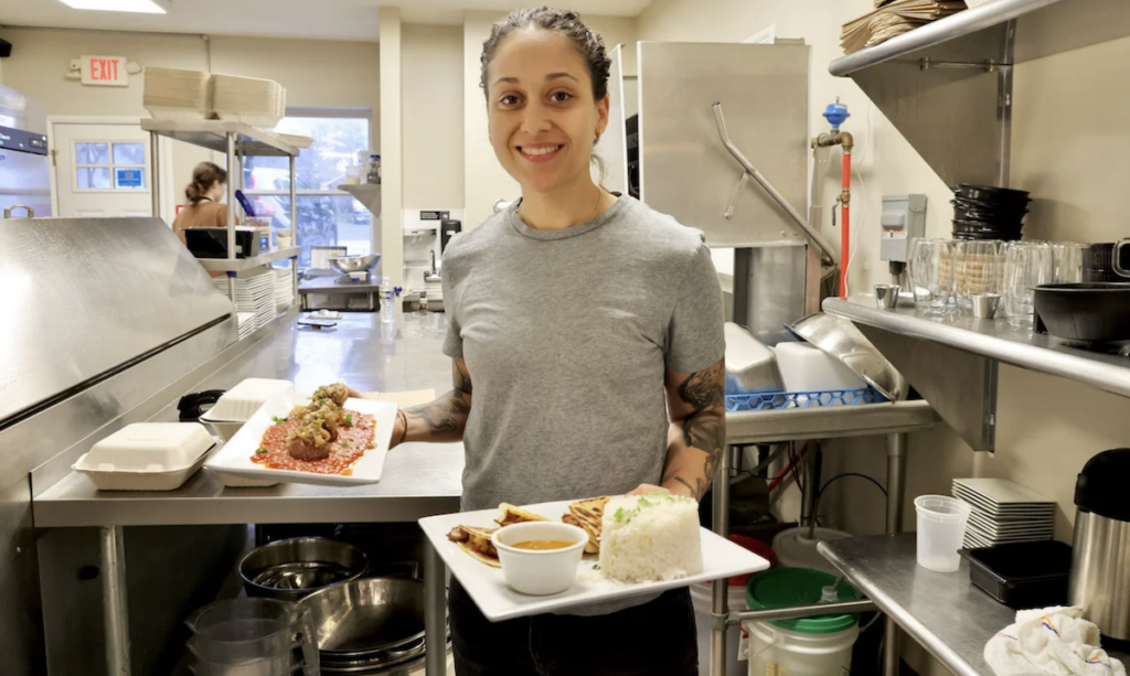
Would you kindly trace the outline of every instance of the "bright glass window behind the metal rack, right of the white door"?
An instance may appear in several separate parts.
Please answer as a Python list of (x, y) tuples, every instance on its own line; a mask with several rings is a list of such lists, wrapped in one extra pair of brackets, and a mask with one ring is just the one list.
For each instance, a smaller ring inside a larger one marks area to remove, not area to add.
[[(310, 264), (311, 246), (345, 246), (349, 255), (372, 253), (372, 214), (360, 202), (338, 190), (346, 167), (357, 164), (357, 151), (370, 148), (368, 117), (285, 117), (273, 131), (314, 139), (295, 160), (299, 265)], [(247, 157), (243, 161), (244, 192), (255, 214), (270, 218), (277, 229), (290, 228), (290, 170), (285, 157)]]

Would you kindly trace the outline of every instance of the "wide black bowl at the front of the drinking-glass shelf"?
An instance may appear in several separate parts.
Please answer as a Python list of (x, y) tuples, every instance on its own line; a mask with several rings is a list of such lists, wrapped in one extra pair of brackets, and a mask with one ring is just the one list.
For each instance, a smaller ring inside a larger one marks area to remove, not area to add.
[(1072, 341), (1130, 340), (1130, 283), (1036, 287), (1036, 315), (1055, 337)]

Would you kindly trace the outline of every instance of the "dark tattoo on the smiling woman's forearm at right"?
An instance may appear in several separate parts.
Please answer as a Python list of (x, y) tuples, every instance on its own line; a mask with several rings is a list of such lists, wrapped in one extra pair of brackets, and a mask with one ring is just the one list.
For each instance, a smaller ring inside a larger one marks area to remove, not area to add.
[(683, 485), (690, 489), (697, 499), (702, 499), (714, 477), (714, 467), (725, 447), (725, 406), (722, 397), (725, 393), (725, 370), (722, 362), (709, 369), (692, 374), (679, 385), (679, 398), (694, 406), (694, 412), (683, 421), (683, 440), (688, 447), (706, 453), (703, 477), (695, 477), (695, 485), (681, 477), (675, 476)]

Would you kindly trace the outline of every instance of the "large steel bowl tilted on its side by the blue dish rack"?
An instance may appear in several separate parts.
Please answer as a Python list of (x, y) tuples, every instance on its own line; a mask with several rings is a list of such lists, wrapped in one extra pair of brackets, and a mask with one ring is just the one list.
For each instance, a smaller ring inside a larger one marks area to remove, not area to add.
[(906, 379), (847, 319), (817, 313), (785, 328), (838, 359), (888, 400), (901, 402), (906, 398), (910, 392)]

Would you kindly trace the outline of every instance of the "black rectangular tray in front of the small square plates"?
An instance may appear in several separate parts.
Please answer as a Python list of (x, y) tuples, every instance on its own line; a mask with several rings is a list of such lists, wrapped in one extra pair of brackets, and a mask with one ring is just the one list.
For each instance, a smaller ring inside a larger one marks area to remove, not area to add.
[(1067, 603), (1071, 547), (1055, 541), (1025, 542), (962, 550), (970, 581), (1017, 611)]

